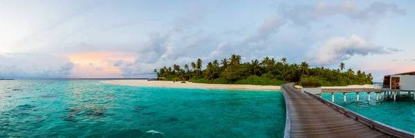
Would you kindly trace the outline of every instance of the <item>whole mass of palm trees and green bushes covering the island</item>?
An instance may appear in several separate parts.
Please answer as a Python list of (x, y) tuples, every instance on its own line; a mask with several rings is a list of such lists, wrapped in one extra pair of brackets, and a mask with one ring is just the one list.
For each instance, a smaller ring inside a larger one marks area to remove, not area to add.
[[(221, 83), (221, 84), (253, 84), (279, 86), (286, 82), (318, 81), (321, 86), (348, 86), (372, 83), (371, 73), (366, 74), (358, 70), (346, 68), (340, 63), (340, 68), (330, 69), (324, 67), (310, 68), (305, 61), (288, 63), (286, 58), (277, 61), (275, 58), (264, 57), (264, 59), (242, 62), (240, 55), (231, 55), (230, 58), (213, 60), (205, 63), (203, 68), (202, 59), (181, 66), (174, 64), (172, 67), (154, 69), (157, 77), (164, 77), (165, 81), (181, 80), (194, 83)], [(343, 71), (344, 70), (344, 71)], [(309, 79), (312, 78), (312, 79)], [(302, 84), (302, 83), (299, 83)]]

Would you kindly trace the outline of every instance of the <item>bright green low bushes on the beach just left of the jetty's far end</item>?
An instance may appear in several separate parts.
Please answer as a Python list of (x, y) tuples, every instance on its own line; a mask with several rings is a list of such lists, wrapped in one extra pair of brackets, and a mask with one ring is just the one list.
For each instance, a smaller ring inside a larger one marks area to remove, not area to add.
[(250, 84), (250, 85), (260, 85), (260, 86), (280, 86), (286, 81), (281, 81), (277, 79), (270, 79), (268, 77), (262, 76), (258, 77), (257, 75), (252, 75), (246, 79), (236, 81), (235, 84)]

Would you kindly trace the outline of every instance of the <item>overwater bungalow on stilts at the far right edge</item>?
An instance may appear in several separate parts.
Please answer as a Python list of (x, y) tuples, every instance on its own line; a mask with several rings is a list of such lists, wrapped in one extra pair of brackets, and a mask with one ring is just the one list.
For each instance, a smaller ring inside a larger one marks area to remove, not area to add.
[(382, 86), (393, 90), (415, 91), (415, 71), (386, 75)]

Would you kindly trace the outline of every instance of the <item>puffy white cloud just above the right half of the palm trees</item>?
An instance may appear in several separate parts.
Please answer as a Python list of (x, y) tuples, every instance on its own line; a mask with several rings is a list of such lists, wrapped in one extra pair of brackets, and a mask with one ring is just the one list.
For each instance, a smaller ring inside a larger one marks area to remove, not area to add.
[(322, 66), (340, 63), (355, 55), (381, 55), (398, 51), (394, 48), (376, 46), (353, 34), (350, 38), (335, 37), (326, 41), (323, 46), (308, 52), (307, 59), (315, 66)]

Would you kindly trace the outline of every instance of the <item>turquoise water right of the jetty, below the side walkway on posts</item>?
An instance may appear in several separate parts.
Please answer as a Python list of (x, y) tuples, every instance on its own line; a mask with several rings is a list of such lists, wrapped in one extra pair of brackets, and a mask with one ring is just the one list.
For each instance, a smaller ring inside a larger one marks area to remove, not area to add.
[[(325, 93), (322, 97), (331, 101), (331, 93)], [(356, 93), (347, 93), (347, 102), (344, 103), (343, 93), (336, 93), (334, 102), (383, 124), (415, 132), (415, 100), (413, 93), (411, 97), (407, 97), (407, 92), (401, 92), (400, 96), (396, 97), (396, 101), (393, 99), (376, 101), (376, 93), (374, 92), (371, 92), (370, 102), (367, 101), (367, 97), (367, 92), (360, 92), (359, 101), (356, 101)]]

